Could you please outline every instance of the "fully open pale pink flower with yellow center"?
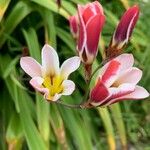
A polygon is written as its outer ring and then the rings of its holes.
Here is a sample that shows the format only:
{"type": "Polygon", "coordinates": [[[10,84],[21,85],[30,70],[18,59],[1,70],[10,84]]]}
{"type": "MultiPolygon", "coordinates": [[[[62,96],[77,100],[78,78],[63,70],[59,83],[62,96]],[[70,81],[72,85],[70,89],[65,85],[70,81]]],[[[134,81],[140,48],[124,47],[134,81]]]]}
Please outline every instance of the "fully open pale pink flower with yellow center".
{"type": "Polygon", "coordinates": [[[45,44],[41,55],[42,65],[32,57],[22,57],[20,60],[22,69],[32,77],[30,84],[33,88],[51,101],[58,100],[62,95],[72,94],[75,84],[67,79],[79,67],[79,57],[67,59],[59,68],[58,55],[51,46],[45,44]]]}

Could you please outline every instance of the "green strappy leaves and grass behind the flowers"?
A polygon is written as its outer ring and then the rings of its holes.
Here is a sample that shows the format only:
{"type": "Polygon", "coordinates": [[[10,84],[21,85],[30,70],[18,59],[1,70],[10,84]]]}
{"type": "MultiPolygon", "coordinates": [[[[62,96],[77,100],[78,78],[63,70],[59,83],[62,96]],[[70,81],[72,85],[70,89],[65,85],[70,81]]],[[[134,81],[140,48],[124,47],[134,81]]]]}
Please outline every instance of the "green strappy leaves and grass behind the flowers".
{"type": "MultiPolygon", "coordinates": [[[[108,108],[69,109],[50,104],[29,85],[30,78],[20,68],[21,56],[40,61],[41,47],[49,43],[57,49],[61,62],[76,54],[68,18],[76,4],[90,0],[0,0],[0,149],[5,150],[150,150],[150,99],[125,101],[108,108]]],[[[143,70],[140,82],[150,90],[150,2],[149,0],[101,0],[106,15],[100,63],[113,31],[125,9],[141,8],[140,19],[126,48],[143,70]]],[[[80,103],[85,82],[82,67],[70,77],[77,90],[63,97],[80,103]]]]}

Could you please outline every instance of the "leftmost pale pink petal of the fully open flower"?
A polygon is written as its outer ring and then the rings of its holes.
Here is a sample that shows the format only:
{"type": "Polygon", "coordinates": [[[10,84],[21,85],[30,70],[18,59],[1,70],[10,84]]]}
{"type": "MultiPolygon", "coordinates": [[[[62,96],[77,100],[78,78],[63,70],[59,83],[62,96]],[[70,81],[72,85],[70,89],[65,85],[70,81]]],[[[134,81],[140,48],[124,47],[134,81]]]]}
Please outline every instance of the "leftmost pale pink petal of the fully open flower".
{"type": "Polygon", "coordinates": [[[41,76],[41,65],[32,57],[22,57],[21,68],[31,77],[41,76]]]}

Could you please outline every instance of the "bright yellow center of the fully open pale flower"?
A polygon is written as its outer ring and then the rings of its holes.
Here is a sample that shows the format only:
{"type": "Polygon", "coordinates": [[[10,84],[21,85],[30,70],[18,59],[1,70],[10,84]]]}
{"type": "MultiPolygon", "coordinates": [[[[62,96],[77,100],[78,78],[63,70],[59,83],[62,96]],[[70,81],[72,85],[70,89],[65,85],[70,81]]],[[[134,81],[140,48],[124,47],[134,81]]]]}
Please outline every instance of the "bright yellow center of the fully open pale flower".
{"type": "Polygon", "coordinates": [[[52,100],[56,93],[63,92],[63,79],[60,76],[47,76],[44,79],[43,86],[49,89],[48,99],[52,100]]]}

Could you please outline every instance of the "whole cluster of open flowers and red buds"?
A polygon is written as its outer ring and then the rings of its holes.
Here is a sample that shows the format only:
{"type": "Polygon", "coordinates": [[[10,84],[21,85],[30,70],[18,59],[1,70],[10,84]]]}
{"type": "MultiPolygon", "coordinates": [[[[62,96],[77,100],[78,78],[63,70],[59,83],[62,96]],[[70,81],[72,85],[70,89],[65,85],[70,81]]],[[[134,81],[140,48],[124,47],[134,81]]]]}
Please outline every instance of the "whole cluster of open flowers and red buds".
{"type": "MultiPolygon", "coordinates": [[[[132,54],[121,54],[128,43],[139,17],[139,7],[129,8],[122,16],[112,36],[106,52],[106,64],[99,69],[94,87],[88,91],[88,97],[82,106],[108,106],[128,99],[143,99],[149,93],[137,83],[142,71],[133,67],[132,54]]],[[[57,101],[62,95],[70,95],[75,90],[69,75],[77,70],[80,61],[85,67],[85,80],[92,79],[92,64],[97,56],[98,43],[105,15],[98,1],[85,6],[78,5],[78,14],[69,19],[70,30],[77,42],[79,56],[67,59],[59,68],[56,51],[45,44],[42,49],[42,65],[31,57],[22,57],[20,65],[31,76],[30,84],[48,101],[57,101]]]]}

